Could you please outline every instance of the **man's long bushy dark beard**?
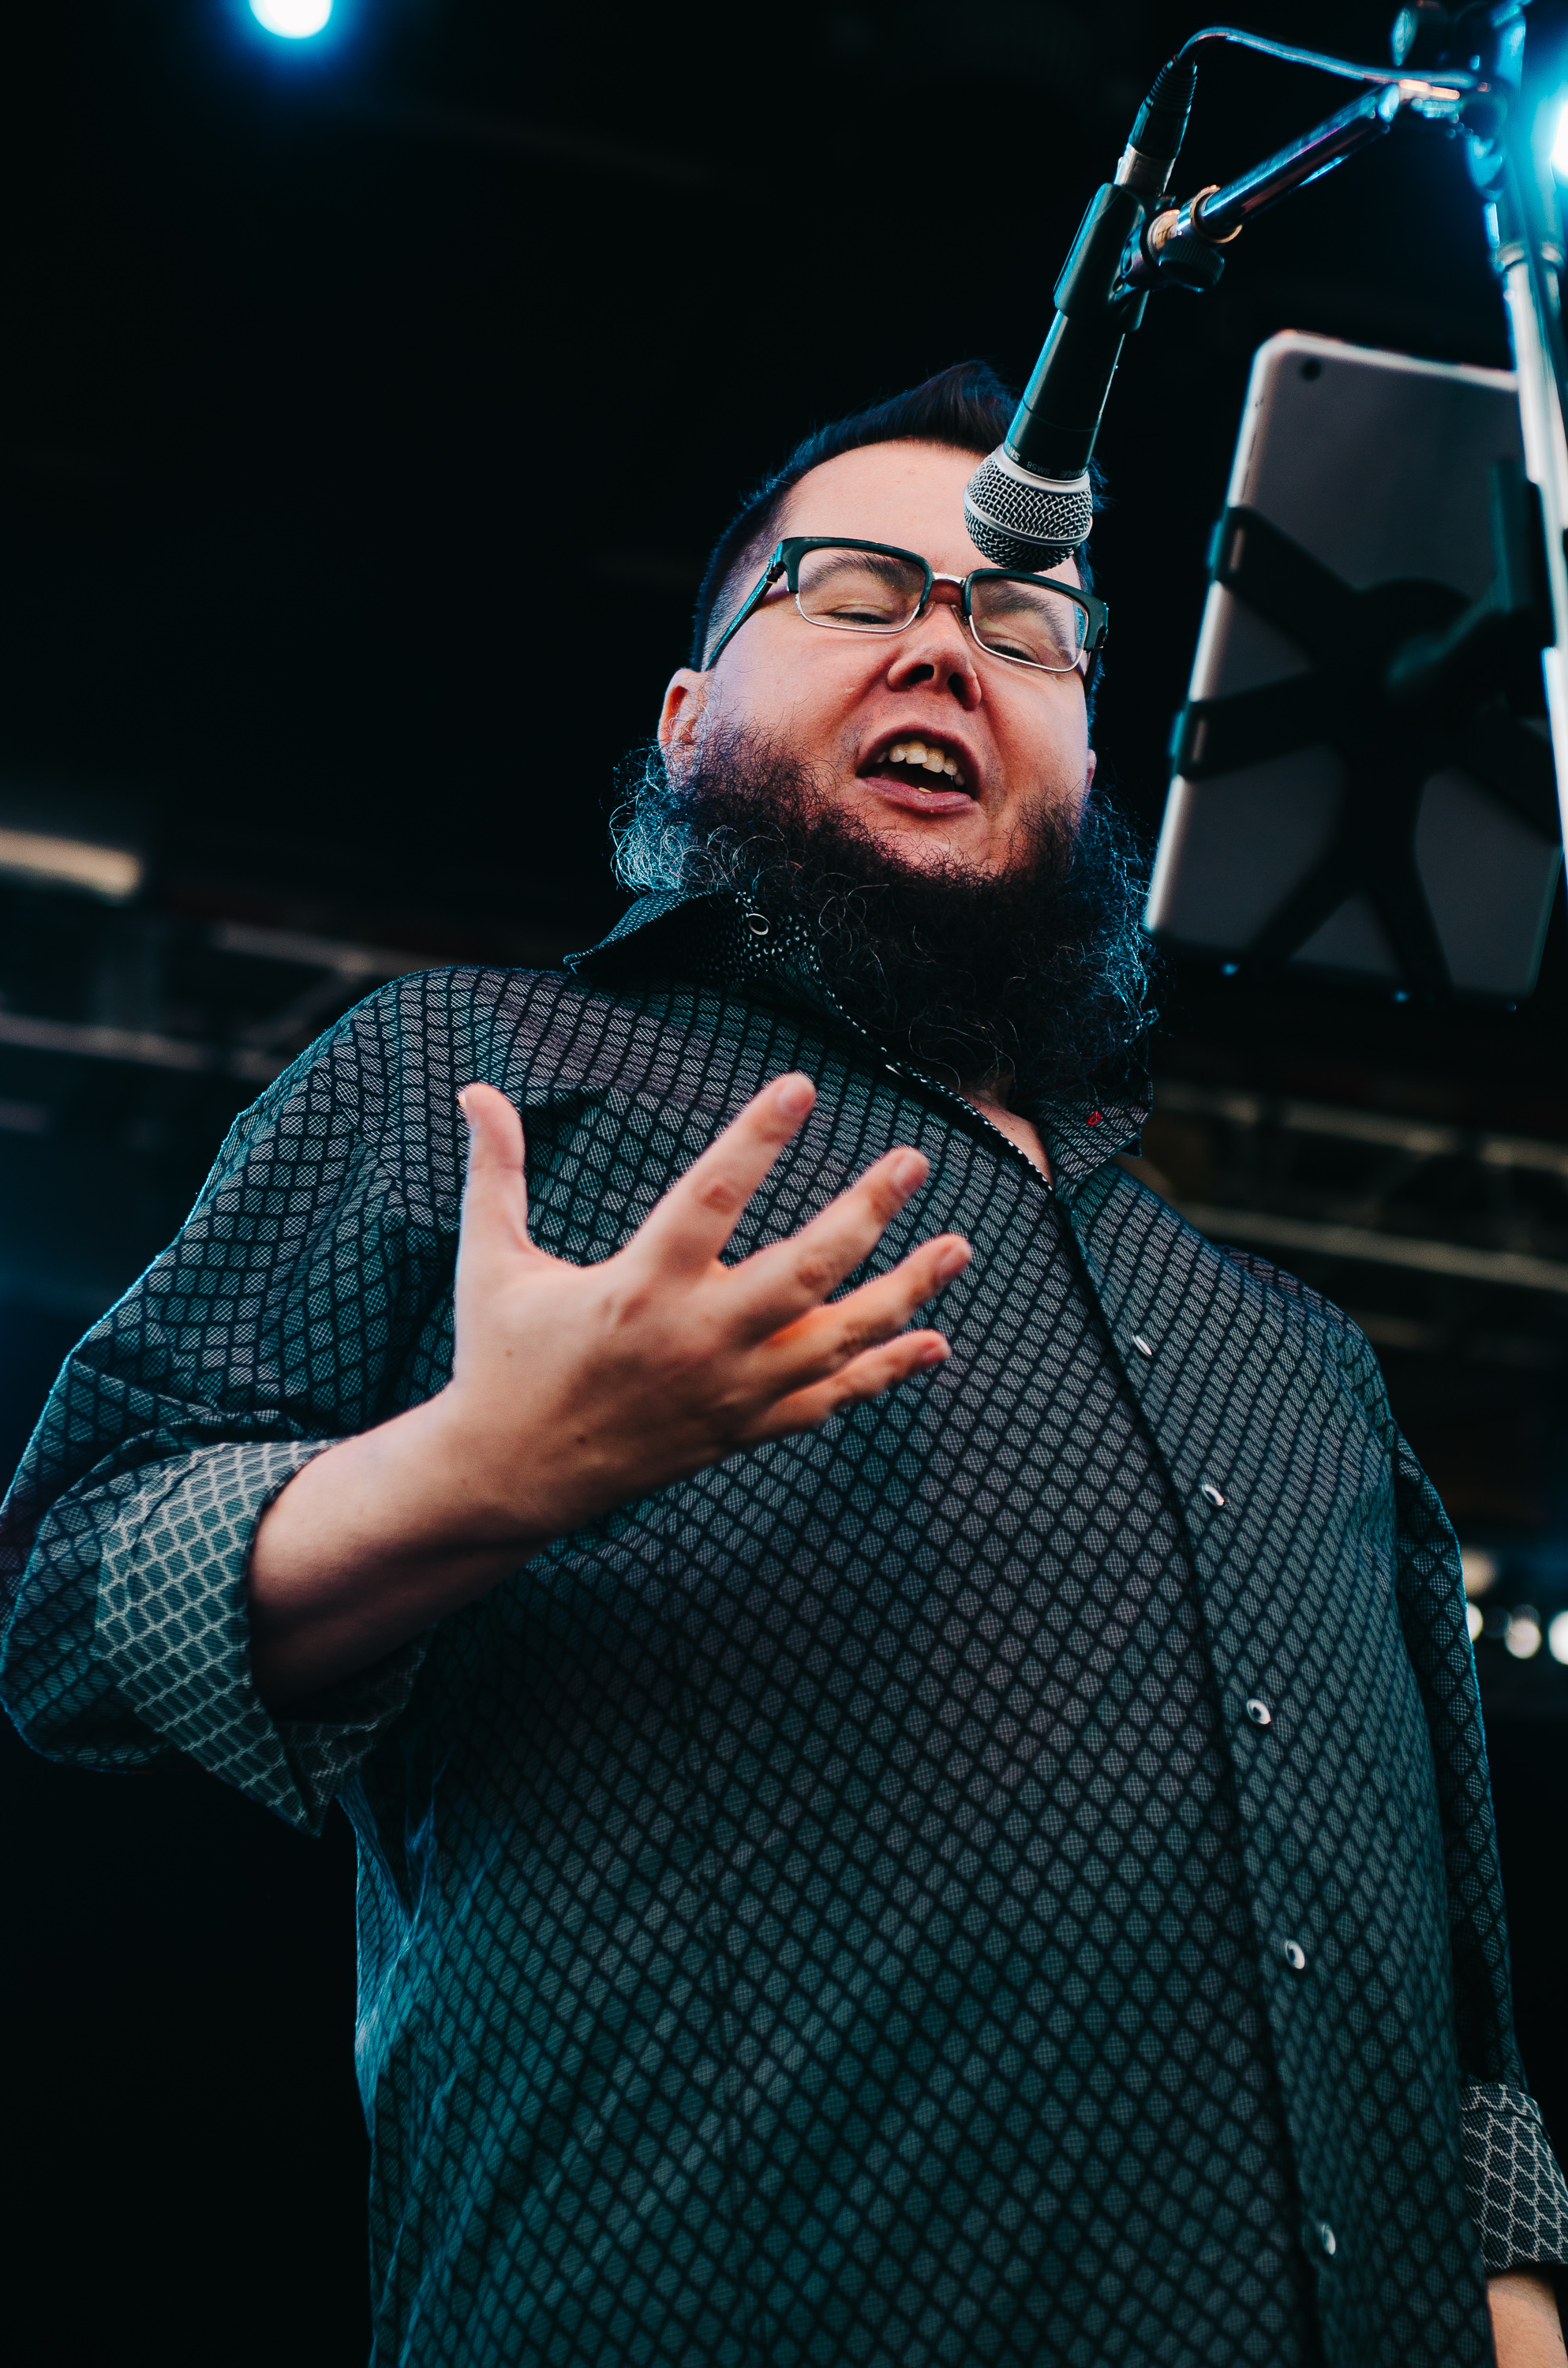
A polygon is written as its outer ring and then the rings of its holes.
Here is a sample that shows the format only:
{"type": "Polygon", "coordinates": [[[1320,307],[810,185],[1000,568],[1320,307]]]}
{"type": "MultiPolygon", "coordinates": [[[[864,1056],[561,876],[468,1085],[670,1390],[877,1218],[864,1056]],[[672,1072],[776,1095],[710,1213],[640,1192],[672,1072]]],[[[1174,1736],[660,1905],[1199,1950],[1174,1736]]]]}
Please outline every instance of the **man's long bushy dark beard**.
{"type": "Polygon", "coordinates": [[[1007,867],[910,864],[760,734],[720,729],[670,781],[640,758],[618,817],[628,888],[730,888],[810,926],[846,1011],[921,1068],[1026,1103],[1153,1023],[1144,864],[1104,803],[1042,796],[1007,867]]]}

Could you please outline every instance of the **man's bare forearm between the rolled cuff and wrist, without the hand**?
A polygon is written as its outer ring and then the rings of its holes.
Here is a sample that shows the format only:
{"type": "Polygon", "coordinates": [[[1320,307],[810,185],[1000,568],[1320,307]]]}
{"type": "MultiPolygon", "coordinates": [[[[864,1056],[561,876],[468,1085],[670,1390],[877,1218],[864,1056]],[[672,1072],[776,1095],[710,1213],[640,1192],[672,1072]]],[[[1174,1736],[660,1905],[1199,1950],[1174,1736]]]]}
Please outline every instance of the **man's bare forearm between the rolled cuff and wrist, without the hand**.
{"type": "Polygon", "coordinates": [[[289,1703],[393,1653],[538,1553],[486,1487],[450,1390],[339,1440],[272,1499],[251,1546],[251,1669],[289,1703]]]}

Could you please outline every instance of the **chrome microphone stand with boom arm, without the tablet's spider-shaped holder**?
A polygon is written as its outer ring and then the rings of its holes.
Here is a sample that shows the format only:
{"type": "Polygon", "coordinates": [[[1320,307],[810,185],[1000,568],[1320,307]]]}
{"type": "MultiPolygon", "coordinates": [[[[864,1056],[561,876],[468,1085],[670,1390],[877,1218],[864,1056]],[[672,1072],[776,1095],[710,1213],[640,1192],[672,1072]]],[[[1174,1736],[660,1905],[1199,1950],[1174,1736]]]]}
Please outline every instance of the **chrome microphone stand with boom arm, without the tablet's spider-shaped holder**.
{"type": "MultiPolygon", "coordinates": [[[[1144,256],[1149,265],[1158,265],[1161,249],[1177,253],[1191,242],[1229,246],[1265,206],[1371,147],[1400,116],[1424,118],[1466,135],[1471,180],[1483,201],[1487,246],[1509,320],[1525,476],[1540,502],[1540,528],[1528,521],[1537,552],[1537,566],[1528,568],[1535,575],[1535,592],[1521,599],[1516,583],[1506,587],[1506,594],[1495,585],[1442,637],[1419,635],[1405,642],[1390,656],[1383,680],[1390,703],[1405,710],[1419,703],[1452,708],[1454,691],[1461,691],[1473,706],[1497,689],[1518,687],[1521,642],[1528,651],[1540,651],[1559,817],[1568,843],[1568,547],[1563,542],[1568,530],[1568,436],[1563,433],[1568,346],[1559,289],[1563,232],[1549,166],[1537,154],[1532,126],[1521,121],[1523,7],[1525,0],[1497,0],[1495,7],[1466,9],[1464,21],[1450,19],[1450,31],[1478,57],[1480,71],[1435,64],[1426,71],[1395,69],[1390,73],[1310,52],[1289,52],[1277,43],[1234,33],[1227,26],[1196,33],[1194,43],[1241,40],[1277,57],[1367,81],[1376,78],[1376,83],[1350,107],[1341,107],[1338,114],[1239,173],[1225,187],[1206,189],[1196,199],[1158,213],[1144,232],[1144,256]],[[1497,632],[1499,616],[1506,616],[1511,628],[1502,637],[1497,632]]],[[[1518,575],[1518,571],[1514,573],[1518,575]]]]}

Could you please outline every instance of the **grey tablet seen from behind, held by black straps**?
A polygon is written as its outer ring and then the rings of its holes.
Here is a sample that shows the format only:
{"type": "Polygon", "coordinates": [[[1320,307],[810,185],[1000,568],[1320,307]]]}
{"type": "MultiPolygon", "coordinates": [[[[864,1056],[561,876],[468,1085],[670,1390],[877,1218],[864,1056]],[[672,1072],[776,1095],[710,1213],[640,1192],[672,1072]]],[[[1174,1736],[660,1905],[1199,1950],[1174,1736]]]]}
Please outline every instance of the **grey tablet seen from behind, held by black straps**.
{"type": "MultiPolygon", "coordinates": [[[[1149,928],[1227,973],[1518,1002],[1561,869],[1540,713],[1400,715],[1388,654],[1495,575],[1514,374],[1286,332],[1253,360],[1149,928]]],[[[1528,488],[1523,488],[1528,497],[1528,488]]]]}

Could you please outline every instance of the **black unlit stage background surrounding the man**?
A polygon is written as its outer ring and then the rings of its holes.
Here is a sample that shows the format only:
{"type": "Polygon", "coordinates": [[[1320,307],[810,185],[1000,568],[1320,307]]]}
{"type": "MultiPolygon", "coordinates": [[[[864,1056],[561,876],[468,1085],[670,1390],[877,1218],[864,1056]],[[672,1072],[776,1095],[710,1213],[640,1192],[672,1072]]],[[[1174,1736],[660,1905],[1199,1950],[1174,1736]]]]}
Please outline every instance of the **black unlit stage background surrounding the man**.
{"type": "MultiPolygon", "coordinates": [[[[1246,21],[1381,57],[1388,14],[1246,21]]],[[[1532,17],[1549,73],[1563,12],[1532,17]]],[[[379,976],[374,950],[550,961],[613,919],[616,765],[737,495],[803,429],[945,362],[1028,372],[1082,204],[1196,21],[1168,0],[339,0],[294,47],[242,0],[7,19],[0,826],[107,817],[149,855],[123,909],[0,879],[7,1471],[265,1061],[379,976]],[[369,966],[327,961],[322,987],[308,938],[369,966]],[[137,1030],[218,1054],[182,1068],[137,1030]]],[[[1343,97],[1210,54],[1187,180],[1343,97]]],[[[1248,232],[1217,294],[1151,305],[1127,353],[1099,741],[1149,831],[1248,358],[1279,327],[1506,365],[1459,152],[1386,142],[1248,232]]],[[[1341,1146],[1312,1167],[1267,1118],[1305,1096],[1566,1144],[1561,907],[1518,1014],[1203,971],[1172,973],[1165,1011],[1163,1077],[1265,1108],[1241,1137],[1156,1120],[1175,1189],[1371,1191],[1393,1229],[1568,1250],[1561,1182],[1504,1205],[1464,1163],[1369,1179],[1341,1146]]],[[[1568,1298],[1291,1262],[1367,1319],[1502,1570],[1492,1601],[1568,1603],[1568,1298]]],[[[1525,2058],[1568,2145],[1568,1669],[1490,1636],[1478,1658],[1525,2058]]],[[[362,2359],[341,1819],[313,1845],[197,1774],[111,1781],[2,1743],[9,2356],[362,2359]]]]}

